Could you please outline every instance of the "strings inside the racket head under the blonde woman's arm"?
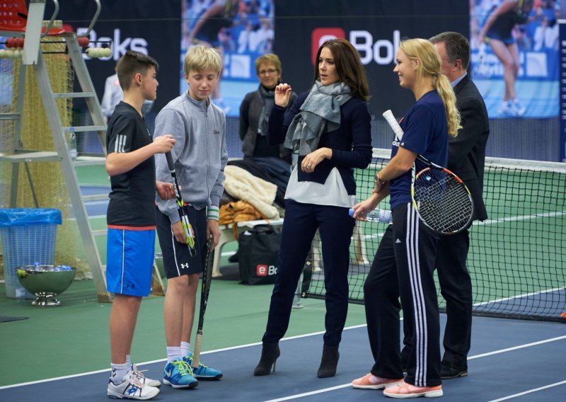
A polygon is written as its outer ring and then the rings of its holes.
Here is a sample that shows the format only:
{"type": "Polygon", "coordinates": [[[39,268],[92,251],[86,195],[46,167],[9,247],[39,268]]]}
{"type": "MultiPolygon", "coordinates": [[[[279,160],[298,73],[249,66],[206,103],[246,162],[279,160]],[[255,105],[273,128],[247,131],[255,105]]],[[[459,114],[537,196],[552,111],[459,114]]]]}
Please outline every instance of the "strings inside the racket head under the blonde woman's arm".
{"type": "Polygon", "coordinates": [[[466,188],[444,171],[431,169],[415,179],[414,199],[421,219],[440,233],[465,228],[473,214],[466,188]]]}

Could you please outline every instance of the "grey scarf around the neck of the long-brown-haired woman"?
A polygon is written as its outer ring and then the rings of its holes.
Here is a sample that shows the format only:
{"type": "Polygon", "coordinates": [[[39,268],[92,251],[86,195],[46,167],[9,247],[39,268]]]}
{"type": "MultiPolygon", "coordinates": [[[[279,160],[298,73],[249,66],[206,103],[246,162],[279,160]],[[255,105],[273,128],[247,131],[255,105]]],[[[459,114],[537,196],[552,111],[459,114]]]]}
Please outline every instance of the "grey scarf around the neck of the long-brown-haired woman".
{"type": "Polygon", "coordinates": [[[301,105],[301,112],[289,125],[284,147],[299,151],[300,156],[316,150],[325,130],[340,127],[340,106],[350,98],[350,87],[343,82],[323,86],[317,80],[301,105]]]}

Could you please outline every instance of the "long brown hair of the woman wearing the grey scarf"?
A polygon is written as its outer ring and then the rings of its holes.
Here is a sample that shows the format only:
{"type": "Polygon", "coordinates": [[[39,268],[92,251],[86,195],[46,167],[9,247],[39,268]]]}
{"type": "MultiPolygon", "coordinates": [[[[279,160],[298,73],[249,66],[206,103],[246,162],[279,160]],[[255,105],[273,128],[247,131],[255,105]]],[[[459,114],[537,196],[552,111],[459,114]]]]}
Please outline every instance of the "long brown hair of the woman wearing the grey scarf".
{"type": "Polygon", "coordinates": [[[359,53],[350,42],[345,39],[337,38],[324,42],[316,53],[316,64],[314,67],[314,80],[316,81],[320,72],[318,71],[318,59],[323,47],[332,52],[336,65],[338,79],[350,87],[352,96],[369,101],[369,86],[367,84],[366,69],[359,59],[359,53]]]}

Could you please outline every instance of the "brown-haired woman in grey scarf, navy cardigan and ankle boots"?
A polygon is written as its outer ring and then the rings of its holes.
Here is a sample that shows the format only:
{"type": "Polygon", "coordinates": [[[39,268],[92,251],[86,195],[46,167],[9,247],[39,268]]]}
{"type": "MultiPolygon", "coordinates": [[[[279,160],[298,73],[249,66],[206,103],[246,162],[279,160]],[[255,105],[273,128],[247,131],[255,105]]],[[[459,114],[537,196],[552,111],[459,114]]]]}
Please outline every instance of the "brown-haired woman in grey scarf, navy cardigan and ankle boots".
{"type": "Polygon", "coordinates": [[[289,84],[275,88],[267,140],[298,155],[285,194],[277,278],[271,297],[261,360],[255,375],[270,374],[287,331],[296,284],[318,229],[325,271],[326,316],[318,377],[333,377],[348,309],[348,267],[356,204],[354,168],[371,161],[369,89],[359,54],[344,39],[323,43],[316,56],[315,82],[285,113],[289,84]]]}

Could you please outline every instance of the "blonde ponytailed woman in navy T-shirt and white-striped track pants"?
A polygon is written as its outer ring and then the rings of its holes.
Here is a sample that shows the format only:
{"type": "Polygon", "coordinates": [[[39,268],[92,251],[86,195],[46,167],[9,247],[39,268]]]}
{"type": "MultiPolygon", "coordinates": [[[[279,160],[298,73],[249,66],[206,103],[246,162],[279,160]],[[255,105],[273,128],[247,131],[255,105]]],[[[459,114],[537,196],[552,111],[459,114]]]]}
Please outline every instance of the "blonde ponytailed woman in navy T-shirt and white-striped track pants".
{"type": "MultiPolygon", "coordinates": [[[[440,72],[434,45],[424,39],[400,43],[393,71],[417,103],[401,119],[405,134],[393,139],[391,161],[376,174],[372,195],[354,206],[354,217],[391,195],[393,224],[386,229],[364,284],[367,330],[375,364],[354,388],[385,389],[395,398],[442,396],[439,313],[434,260],[439,236],[424,226],[411,204],[411,167],[417,154],[441,166],[448,161],[448,135],[460,114],[450,82],[440,72]],[[400,304],[399,304],[400,297],[400,304]],[[403,307],[410,355],[403,378],[399,311],[403,307]]],[[[420,166],[417,161],[417,171],[420,166]]]]}

